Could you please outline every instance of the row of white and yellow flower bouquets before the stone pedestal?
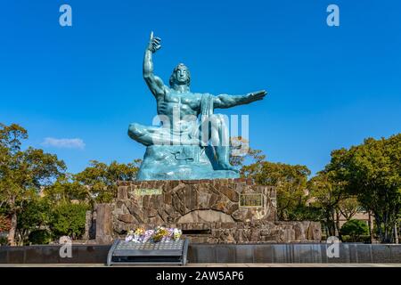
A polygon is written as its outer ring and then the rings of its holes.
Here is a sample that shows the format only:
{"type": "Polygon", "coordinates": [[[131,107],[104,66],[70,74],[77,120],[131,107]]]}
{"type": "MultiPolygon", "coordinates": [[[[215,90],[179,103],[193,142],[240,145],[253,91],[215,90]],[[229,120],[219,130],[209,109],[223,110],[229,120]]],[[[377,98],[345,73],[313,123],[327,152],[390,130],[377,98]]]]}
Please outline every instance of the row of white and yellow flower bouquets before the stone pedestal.
{"type": "Polygon", "coordinates": [[[153,242],[179,240],[183,232],[177,228],[165,228],[158,226],[154,230],[145,230],[143,227],[136,228],[135,231],[130,230],[127,232],[126,241],[132,242],[146,242],[151,240],[153,242]]]}

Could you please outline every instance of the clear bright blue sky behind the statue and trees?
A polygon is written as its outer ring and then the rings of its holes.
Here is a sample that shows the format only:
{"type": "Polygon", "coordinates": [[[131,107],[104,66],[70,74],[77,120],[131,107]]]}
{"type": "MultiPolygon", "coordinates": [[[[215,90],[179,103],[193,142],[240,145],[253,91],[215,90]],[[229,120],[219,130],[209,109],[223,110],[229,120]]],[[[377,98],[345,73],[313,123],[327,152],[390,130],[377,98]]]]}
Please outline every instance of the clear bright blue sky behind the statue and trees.
{"type": "Polygon", "coordinates": [[[222,112],[250,115],[250,146],[267,159],[316,172],[331,150],[401,131],[400,15],[399,1],[4,0],[0,122],[27,128],[26,145],[72,173],[90,159],[142,158],[127,126],[151,125],[156,113],[142,77],[153,30],[165,83],[183,61],[192,91],[266,89],[263,102],[222,112]],[[59,25],[61,4],[72,27],[59,25]],[[326,24],[329,4],[340,27],[326,24]],[[49,137],[83,143],[54,147],[49,137]]]}

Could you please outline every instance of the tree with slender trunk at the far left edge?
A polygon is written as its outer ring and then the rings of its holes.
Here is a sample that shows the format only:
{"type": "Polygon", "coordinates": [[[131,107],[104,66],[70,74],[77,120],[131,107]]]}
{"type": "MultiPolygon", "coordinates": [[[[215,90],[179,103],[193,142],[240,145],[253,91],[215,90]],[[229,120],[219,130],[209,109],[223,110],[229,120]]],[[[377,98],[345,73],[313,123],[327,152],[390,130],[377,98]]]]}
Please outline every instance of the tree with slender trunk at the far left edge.
{"type": "Polygon", "coordinates": [[[11,245],[15,244],[18,213],[24,203],[65,170],[64,162],[55,155],[31,147],[21,151],[21,140],[27,138],[23,127],[0,124],[0,207],[7,208],[12,217],[8,234],[11,245]]]}

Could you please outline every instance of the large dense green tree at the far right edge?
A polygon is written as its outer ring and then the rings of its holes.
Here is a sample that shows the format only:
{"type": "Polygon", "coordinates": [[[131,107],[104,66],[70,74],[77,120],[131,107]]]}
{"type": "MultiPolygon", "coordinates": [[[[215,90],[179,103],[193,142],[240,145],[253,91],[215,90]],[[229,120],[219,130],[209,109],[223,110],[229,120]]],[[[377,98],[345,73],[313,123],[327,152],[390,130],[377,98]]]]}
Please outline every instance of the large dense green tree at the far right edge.
{"type": "Polygon", "coordinates": [[[326,169],[372,211],[381,241],[391,242],[401,210],[401,134],[332,151],[326,169]]]}

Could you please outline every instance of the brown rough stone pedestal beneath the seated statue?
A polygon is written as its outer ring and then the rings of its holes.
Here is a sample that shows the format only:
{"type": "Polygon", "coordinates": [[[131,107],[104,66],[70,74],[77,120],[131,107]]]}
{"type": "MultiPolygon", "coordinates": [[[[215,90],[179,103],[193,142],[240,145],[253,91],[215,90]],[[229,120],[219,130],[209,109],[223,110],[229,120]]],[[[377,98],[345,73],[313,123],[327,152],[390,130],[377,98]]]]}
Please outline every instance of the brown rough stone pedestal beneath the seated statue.
{"type": "Polygon", "coordinates": [[[163,225],[207,243],[320,241],[320,223],[277,221],[275,195],[274,187],[241,178],[119,182],[112,230],[118,237],[163,225]]]}

